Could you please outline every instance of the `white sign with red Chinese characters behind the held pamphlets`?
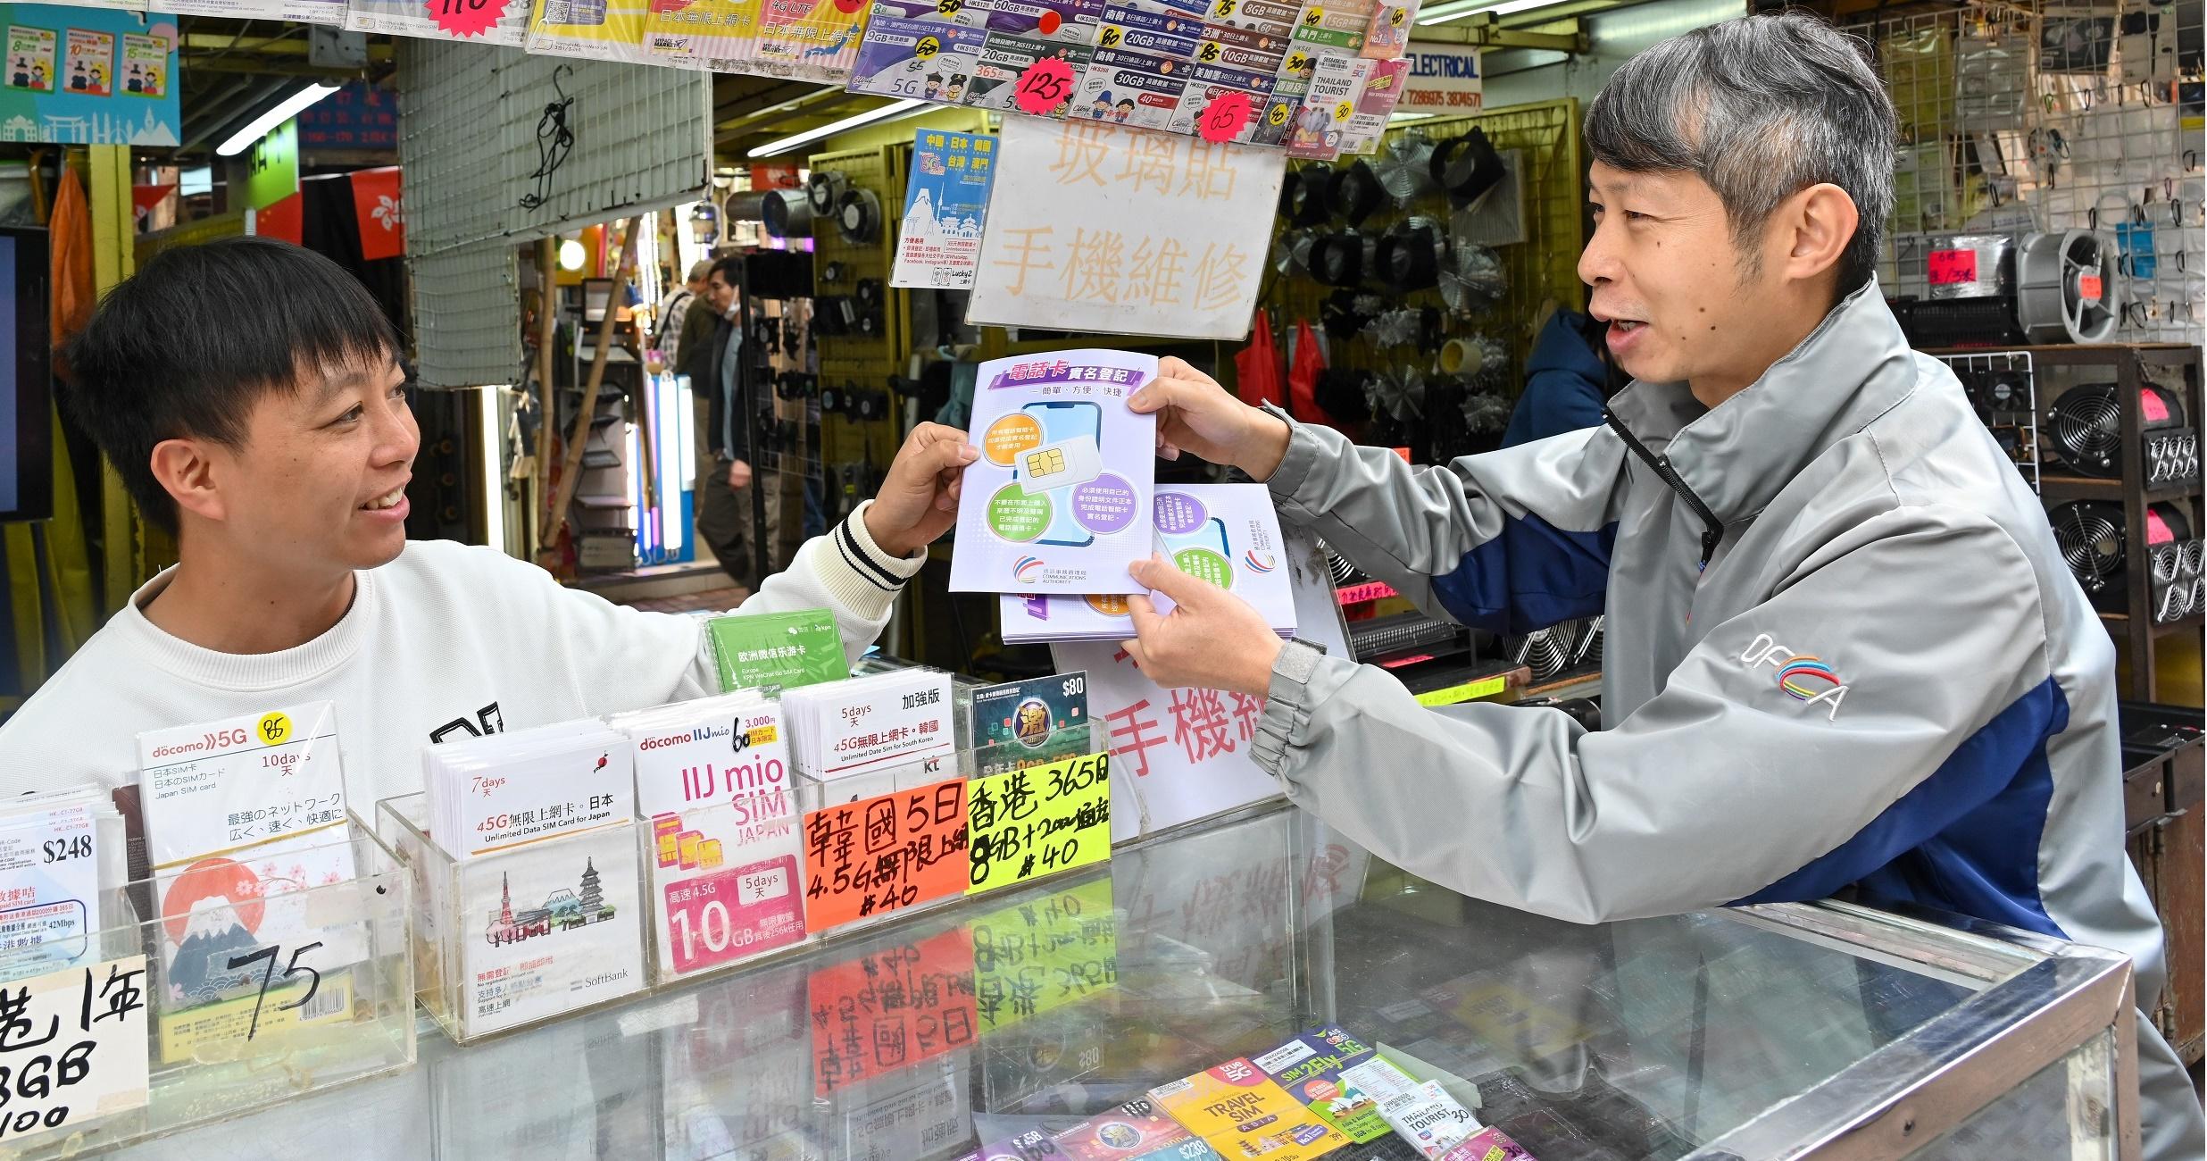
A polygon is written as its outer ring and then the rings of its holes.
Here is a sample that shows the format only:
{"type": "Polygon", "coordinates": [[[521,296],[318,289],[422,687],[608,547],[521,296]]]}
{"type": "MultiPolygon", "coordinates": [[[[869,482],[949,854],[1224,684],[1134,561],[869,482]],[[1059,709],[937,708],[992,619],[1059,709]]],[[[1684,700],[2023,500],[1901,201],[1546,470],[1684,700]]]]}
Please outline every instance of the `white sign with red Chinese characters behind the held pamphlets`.
{"type": "MultiPolygon", "coordinates": [[[[1296,528],[1282,530],[1280,541],[1298,636],[1324,645],[1329,656],[1351,656],[1324,554],[1296,528]]],[[[1059,673],[1088,671],[1088,715],[1110,737],[1112,843],[1280,792],[1280,784],[1249,759],[1262,697],[1161,689],[1134,669],[1119,642],[1057,642],[1051,658],[1059,673]]]]}

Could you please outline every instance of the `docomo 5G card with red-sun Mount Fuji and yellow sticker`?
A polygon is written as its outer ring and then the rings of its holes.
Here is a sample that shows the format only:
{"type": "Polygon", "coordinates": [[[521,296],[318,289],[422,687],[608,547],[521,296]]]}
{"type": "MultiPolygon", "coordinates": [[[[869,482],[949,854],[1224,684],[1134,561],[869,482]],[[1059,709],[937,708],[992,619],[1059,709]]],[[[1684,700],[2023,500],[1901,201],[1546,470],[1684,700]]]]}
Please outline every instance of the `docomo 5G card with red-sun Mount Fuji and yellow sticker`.
{"type": "MultiPolygon", "coordinates": [[[[324,978],[366,956],[360,916],[318,905],[318,887],[353,878],[338,715],[329,702],[146,731],[139,808],[161,925],[159,1013],[168,1059],[221,1037],[230,1009],[267,982],[265,956],[311,947],[324,978]],[[236,965],[236,967],[234,967],[236,965]]],[[[346,1015],[342,980],[316,989],[289,1022],[346,1015]]],[[[274,1006],[274,1004],[271,1004],[274,1006]]],[[[274,1031],[267,1022],[260,1033],[274,1031]]]]}

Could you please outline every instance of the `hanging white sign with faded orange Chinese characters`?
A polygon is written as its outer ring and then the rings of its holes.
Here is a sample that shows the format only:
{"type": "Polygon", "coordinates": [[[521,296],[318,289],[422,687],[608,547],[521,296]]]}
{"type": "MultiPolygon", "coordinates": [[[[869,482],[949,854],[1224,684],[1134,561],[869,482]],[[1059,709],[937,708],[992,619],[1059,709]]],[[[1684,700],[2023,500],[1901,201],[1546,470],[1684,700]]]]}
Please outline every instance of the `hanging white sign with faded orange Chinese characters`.
{"type": "Polygon", "coordinates": [[[1249,333],[1287,155],[1104,121],[1009,117],[967,322],[1249,333]]]}

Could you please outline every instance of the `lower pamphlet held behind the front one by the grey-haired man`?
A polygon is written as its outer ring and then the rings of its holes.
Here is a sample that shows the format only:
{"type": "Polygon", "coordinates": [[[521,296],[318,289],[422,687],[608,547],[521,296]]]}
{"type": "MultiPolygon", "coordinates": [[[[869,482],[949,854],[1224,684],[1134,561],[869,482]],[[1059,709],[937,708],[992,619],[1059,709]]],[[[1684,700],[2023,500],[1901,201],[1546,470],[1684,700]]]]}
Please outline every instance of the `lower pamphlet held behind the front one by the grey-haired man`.
{"type": "MultiPolygon", "coordinates": [[[[1154,547],[1181,572],[1247,600],[1282,638],[1296,636],[1280,514],[1262,483],[1170,483],[1152,505],[1154,547]]],[[[1172,598],[1150,594],[1159,614],[1172,598]]],[[[1126,640],[1134,636],[1126,596],[1002,596],[1004,645],[1037,640],[1126,640]]]]}

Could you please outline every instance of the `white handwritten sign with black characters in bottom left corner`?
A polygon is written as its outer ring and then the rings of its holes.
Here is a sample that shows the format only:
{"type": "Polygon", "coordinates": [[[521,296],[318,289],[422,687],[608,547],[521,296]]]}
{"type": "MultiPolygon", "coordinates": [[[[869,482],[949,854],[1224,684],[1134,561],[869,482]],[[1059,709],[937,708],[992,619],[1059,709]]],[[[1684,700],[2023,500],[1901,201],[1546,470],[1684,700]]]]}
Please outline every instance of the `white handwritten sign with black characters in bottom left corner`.
{"type": "Polygon", "coordinates": [[[0,984],[0,1150],[146,1106],[146,956],[0,984]]]}

